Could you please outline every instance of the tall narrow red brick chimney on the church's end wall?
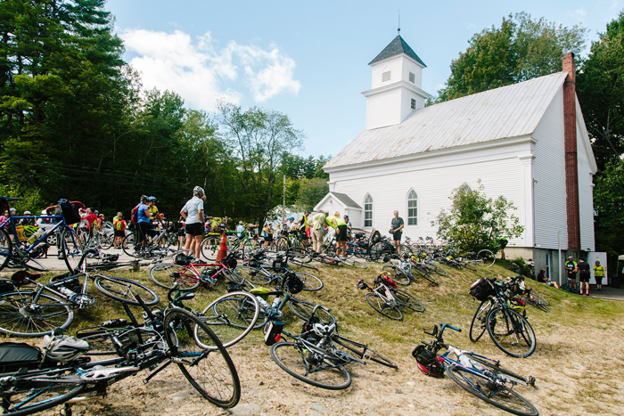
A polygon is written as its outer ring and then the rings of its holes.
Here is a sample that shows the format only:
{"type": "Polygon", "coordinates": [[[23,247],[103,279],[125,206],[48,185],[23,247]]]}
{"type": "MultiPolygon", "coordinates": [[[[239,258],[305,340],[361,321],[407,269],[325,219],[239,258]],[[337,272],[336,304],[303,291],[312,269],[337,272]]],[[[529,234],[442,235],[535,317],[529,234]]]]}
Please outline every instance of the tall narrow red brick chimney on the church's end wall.
{"type": "Polygon", "coordinates": [[[577,156],[576,68],[574,53],[563,55],[563,137],[565,146],[565,189],[568,212],[568,249],[580,249],[579,164],[577,156]]]}

